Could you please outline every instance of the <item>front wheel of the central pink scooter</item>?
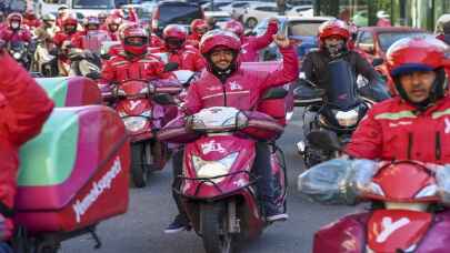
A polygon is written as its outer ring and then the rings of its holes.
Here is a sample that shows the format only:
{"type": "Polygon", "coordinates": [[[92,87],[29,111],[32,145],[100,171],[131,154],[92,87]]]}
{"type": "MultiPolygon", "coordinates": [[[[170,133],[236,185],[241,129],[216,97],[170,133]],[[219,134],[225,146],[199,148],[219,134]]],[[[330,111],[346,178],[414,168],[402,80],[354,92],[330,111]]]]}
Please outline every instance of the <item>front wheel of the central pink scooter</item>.
{"type": "Polygon", "coordinates": [[[200,224],[207,253],[232,253],[233,235],[227,231],[227,212],[223,203],[202,204],[200,224]]]}

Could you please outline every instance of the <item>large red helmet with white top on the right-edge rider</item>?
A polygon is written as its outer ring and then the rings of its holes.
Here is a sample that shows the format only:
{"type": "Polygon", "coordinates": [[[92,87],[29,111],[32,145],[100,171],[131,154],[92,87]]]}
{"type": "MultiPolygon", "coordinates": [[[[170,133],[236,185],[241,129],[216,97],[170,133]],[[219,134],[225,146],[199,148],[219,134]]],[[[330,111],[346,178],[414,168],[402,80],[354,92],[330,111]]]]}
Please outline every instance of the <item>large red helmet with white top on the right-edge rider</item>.
{"type": "Polygon", "coordinates": [[[446,51],[449,47],[431,36],[404,38],[394,42],[387,52],[387,64],[394,80],[396,89],[408,99],[398,79],[399,75],[414,71],[436,71],[432,99],[443,97],[446,90],[446,51]]]}

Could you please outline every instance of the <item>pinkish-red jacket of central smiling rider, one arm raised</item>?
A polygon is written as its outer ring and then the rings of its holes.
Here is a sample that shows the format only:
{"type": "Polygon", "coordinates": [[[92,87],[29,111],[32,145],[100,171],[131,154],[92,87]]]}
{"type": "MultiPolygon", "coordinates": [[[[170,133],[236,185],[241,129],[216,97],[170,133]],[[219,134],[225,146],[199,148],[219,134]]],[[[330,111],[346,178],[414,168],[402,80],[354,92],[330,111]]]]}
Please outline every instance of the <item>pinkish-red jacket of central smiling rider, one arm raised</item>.
{"type": "Polygon", "coordinates": [[[282,69],[270,73],[240,68],[222,83],[214,74],[203,70],[200,79],[189,87],[186,101],[188,114],[211,107],[254,110],[264,90],[294,81],[299,75],[293,47],[280,49],[280,52],[283,54],[282,69]]]}

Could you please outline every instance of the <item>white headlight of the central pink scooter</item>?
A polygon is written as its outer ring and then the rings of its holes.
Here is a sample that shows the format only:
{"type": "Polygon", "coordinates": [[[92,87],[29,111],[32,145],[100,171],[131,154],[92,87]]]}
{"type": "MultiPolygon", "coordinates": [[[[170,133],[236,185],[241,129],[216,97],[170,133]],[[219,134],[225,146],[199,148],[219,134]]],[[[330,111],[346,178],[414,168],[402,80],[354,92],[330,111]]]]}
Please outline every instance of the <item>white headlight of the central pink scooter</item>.
{"type": "MultiPolygon", "coordinates": [[[[214,176],[226,175],[230,172],[232,164],[238,158],[238,154],[239,152],[231,153],[219,161],[204,161],[197,155],[192,155],[192,165],[197,171],[198,178],[210,179],[214,176]]],[[[219,183],[223,181],[224,178],[226,176],[211,179],[211,181],[214,183],[219,183]]]]}

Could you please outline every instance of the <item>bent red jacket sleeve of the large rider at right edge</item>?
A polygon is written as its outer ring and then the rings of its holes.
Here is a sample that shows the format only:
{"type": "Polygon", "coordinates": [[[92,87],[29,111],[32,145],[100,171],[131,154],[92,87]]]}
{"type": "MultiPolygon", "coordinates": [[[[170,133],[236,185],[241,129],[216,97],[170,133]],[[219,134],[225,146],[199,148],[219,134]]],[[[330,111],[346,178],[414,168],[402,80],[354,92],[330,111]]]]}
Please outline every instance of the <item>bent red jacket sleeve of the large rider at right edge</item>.
{"type": "Polygon", "coordinates": [[[379,159],[382,151],[382,129],[380,122],[370,110],[361,120],[351,141],[346,146],[346,153],[359,159],[379,159]]]}

